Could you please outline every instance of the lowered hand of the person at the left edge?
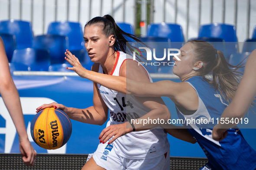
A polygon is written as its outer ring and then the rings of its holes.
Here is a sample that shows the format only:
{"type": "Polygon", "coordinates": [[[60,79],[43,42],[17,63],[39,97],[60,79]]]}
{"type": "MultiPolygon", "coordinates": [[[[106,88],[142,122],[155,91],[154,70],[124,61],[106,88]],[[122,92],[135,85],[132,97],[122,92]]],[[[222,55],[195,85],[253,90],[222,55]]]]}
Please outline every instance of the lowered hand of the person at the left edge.
{"type": "Polygon", "coordinates": [[[29,139],[19,139],[19,151],[26,166],[33,166],[36,161],[36,151],[32,147],[29,139]]]}

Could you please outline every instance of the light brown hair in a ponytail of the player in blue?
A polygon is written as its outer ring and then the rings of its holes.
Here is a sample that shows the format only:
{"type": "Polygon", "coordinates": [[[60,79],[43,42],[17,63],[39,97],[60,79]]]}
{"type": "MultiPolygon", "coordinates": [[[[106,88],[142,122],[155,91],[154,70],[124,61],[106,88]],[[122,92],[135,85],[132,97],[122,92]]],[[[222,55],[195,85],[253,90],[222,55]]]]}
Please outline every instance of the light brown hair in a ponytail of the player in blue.
{"type": "Polygon", "coordinates": [[[194,46],[196,57],[194,62],[203,62],[203,67],[197,70],[196,76],[202,76],[216,90],[218,89],[220,91],[225,101],[230,103],[235,95],[242,75],[237,69],[243,66],[230,65],[227,63],[222,51],[214,49],[211,44],[205,41],[193,40],[189,42],[194,46]],[[204,76],[211,72],[213,79],[206,79],[204,76]]]}

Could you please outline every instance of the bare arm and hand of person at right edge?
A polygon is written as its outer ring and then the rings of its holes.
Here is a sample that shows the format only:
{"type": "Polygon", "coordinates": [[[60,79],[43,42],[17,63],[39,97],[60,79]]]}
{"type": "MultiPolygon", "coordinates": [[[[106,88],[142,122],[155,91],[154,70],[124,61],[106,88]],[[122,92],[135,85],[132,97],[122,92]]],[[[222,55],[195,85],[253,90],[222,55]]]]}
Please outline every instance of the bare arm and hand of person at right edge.
{"type": "MultiPolygon", "coordinates": [[[[224,110],[220,118],[228,118],[229,120],[243,118],[250,107],[253,99],[256,96],[256,50],[250,54],[245,69],[243,78],[237,88],[237,92],[224,110]]],[[[217,124],[212,130],[212,138],[217,141],[221,141],[224,138],[225,131],[233,128],[236,124],[217,124]]]]}

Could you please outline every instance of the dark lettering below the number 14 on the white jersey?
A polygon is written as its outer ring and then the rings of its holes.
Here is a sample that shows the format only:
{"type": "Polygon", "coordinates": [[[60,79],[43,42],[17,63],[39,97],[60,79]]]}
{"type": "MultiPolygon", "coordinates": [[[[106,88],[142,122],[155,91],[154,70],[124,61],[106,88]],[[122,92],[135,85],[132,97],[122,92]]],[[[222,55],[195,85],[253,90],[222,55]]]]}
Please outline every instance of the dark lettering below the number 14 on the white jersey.
{"type": "Polygon", "coordinates": [[[130,121],[131,119],[137,119],[139,118],[139,115],[135,112],[132,112],[132,113],[114,113],[113,111],[110,111],[110,116],[111,118],[116,121],[116,122],[126,122],[127,121],[130,121]]]}

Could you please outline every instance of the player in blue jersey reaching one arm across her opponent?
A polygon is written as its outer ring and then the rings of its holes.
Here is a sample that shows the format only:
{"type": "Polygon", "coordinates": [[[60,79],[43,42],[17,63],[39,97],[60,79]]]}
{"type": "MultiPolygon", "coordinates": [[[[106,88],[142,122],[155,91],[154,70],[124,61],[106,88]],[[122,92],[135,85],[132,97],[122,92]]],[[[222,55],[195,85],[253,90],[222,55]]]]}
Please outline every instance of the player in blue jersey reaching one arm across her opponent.
{"type": "MultiPolygon", "coordinates": [[[[228,129],[228,135],[225,133],[222,141],[212,139],[216,119],[220,118],[237,89],[239,66],[228,64],[221,51],[204,41],[189,41],[180,50],[180,60],[173,58],[173,73],[179,76],[180,83],[169,80],[154,83],[134,81],[79,69],[75,64],[73,70],[79,72],[83,78],[121,93],[143,97],[169,97],[176,104],[178,117],[184,120],[184,126],[209,160],[201,170],[256,169],[256,151],[247,144],[240,129],[228,129]],[[205,78],[210,72],[213,73],[213,80],[205,78]],[[196,123],[188,120],[200,121],[196,123]]],[[[141,127],[140,124],[134,126],[141,127]]],[[[166,131],[169,132],[168,129],[166,131]]],[[[106,134],[115,133],[109,127],[104,129],[100,134],[104,141],[110,139],[110,135],[106,134]]]]}

